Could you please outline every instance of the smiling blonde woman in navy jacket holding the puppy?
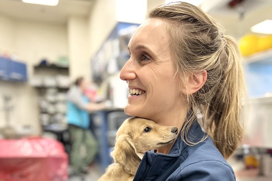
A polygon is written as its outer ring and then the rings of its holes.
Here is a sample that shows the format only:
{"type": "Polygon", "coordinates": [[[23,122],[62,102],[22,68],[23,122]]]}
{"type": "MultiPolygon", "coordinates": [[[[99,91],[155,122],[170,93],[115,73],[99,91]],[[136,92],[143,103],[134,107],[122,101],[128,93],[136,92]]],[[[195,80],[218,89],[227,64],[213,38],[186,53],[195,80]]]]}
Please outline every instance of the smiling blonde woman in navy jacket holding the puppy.
{"type": "Polygon", "coordinates": [[[235,180],[225,160],[242,136],[243,72],[234,40],[198,7],[175,2],[151,10],[128,51],[120,74],[130,91],[125,113],[180,131],[170,146],[145,153],[134,181],[235,180]]]}

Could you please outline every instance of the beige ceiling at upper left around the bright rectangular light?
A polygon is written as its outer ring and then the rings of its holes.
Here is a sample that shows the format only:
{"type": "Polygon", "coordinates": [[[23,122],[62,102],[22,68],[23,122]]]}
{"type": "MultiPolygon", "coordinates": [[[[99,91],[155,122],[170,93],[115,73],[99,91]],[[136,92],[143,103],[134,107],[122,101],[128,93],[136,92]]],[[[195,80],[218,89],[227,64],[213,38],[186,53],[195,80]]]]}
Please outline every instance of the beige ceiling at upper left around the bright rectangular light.
{"type": "Polygon", "coordinates": [[[14,19],[65,24],[69,16],[88,16],[94,0],[59,0],[57,6],[0,0],[0,15],[14,19]]]}

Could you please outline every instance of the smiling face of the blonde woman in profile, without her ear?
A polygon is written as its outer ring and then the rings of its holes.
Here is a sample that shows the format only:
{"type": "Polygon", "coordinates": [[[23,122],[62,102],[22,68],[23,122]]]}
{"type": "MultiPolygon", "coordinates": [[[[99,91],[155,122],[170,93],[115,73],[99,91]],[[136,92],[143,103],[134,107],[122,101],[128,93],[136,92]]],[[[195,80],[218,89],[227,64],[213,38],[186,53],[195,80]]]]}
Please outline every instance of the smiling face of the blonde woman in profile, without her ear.
{"type": "Polygon", "coordinates": [[[181,98],[166,23],[146,20],[130,39],[128,51],[130,58],[120,74],[130,91],[125,113],[156,122],[170,118],[180,108],[181,98]]]}

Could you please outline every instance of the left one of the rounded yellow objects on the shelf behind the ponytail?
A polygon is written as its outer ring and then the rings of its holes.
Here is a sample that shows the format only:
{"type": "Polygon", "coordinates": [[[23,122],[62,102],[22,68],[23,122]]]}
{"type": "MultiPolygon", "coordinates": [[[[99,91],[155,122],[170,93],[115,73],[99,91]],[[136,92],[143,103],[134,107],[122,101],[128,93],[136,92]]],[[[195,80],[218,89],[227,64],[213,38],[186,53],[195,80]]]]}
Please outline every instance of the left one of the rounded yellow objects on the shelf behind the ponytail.
{"type": "Polygon", "coordinates": [[[254,54],[259,51],[258,48],[258,36],[255,35],[245,35],[239,41],[239,49],[241,54],[245,57],[254,54]]]}

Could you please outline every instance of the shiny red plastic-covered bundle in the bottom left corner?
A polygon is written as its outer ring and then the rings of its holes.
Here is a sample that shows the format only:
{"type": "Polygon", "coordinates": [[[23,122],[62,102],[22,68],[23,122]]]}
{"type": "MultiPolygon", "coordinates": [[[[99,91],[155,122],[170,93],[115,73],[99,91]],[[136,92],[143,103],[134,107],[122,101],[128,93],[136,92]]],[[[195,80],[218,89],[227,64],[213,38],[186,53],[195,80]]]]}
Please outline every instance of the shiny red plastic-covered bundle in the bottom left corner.
{"type": "Polygon", "coordinates": [[[0,181],[64,181],[68,155],[53,139],[0,139],[0,181]]]}

